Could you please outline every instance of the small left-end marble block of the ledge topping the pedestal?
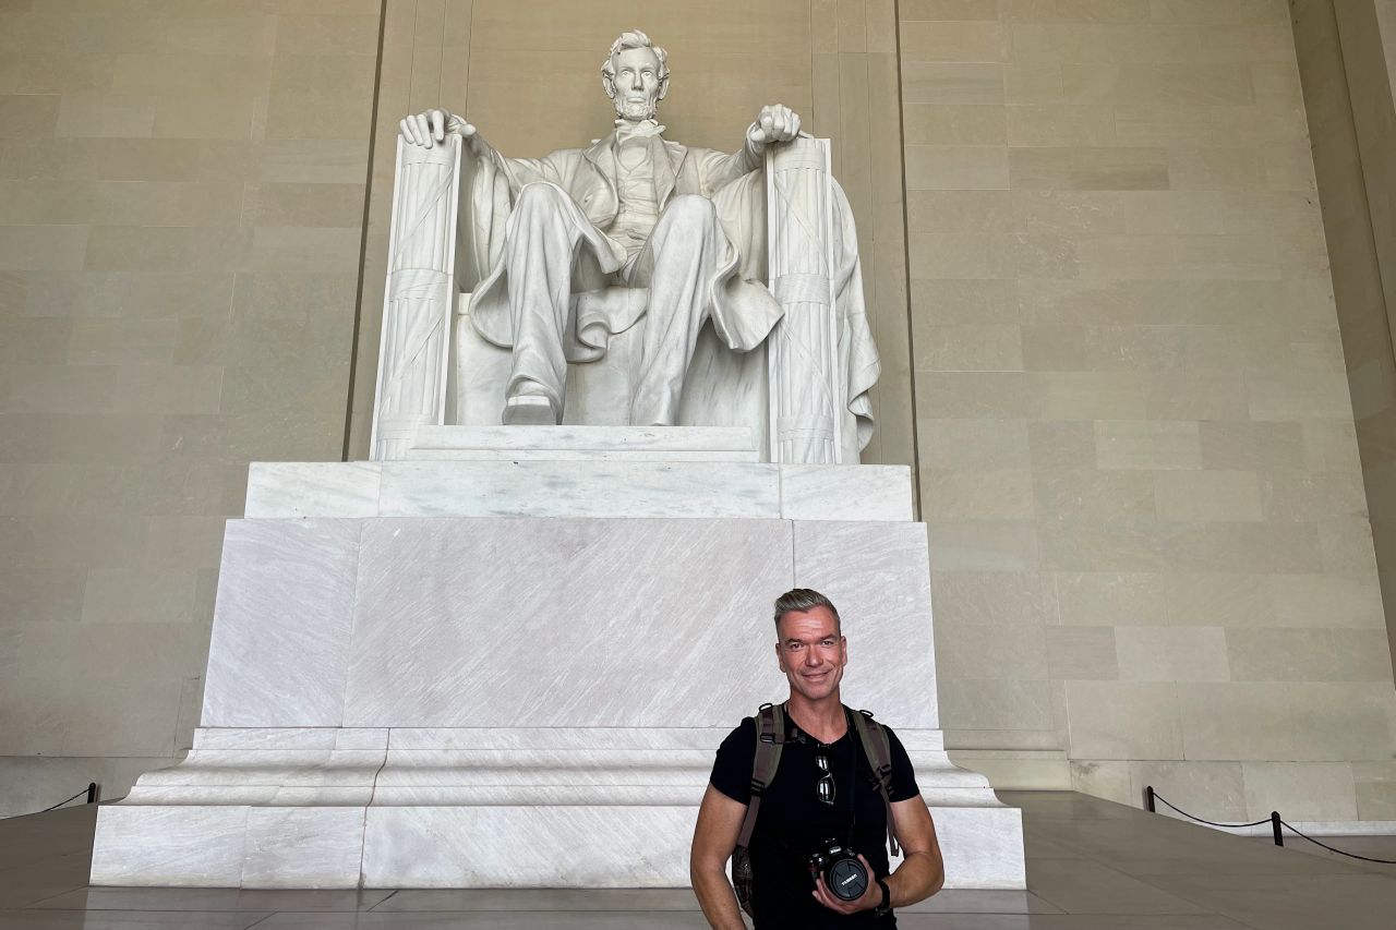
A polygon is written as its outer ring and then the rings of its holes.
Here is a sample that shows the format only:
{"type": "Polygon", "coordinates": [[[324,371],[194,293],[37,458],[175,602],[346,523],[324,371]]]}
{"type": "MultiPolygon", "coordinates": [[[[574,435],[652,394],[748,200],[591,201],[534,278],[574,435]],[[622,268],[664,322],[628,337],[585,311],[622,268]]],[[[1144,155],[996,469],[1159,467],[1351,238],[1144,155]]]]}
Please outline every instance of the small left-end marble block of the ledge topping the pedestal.
{"type": "Polygon", "coordinates": [[[253,462],[243,515],[374,517],[377,462],[253,462]]]}

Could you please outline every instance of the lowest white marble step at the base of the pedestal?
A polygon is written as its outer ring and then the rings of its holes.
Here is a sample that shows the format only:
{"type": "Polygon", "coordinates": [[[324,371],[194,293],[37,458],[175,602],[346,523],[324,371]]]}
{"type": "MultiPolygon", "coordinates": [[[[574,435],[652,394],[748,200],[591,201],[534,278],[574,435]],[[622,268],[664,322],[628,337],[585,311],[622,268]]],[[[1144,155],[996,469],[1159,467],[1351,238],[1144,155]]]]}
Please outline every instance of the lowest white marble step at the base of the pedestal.
{"type": "MultiPolygon", "coordinates": [[[[697,813],[697,803],[105,804],[91,884],[681,888],[697,813]]],[[[946,888],[1025,887],[1022,811],[952,806],[934,817],[946,888]]]]}

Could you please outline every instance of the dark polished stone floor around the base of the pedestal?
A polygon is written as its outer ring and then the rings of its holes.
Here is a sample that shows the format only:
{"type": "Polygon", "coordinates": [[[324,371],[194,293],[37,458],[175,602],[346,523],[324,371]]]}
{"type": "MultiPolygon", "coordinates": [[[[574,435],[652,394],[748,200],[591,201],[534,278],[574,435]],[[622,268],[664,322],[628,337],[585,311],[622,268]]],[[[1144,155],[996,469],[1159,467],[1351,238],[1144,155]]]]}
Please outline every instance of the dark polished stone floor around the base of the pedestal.
{"type": "MultiPolygon", "coordinates": [[[[946,891],[906,930],[1390,930],[1396,866],[1275,848],[1074,793],[1023,807],[1027,891],[946,891]]],[[[88,888],[94,809],[0,821],[0,930],[466,930],[705,927],[659,891],[88,888]]],[[[1396,859],[1396,836],[1335,839],[1396,859]]],[[[1294,845],[1301,841],[1290,841],[1294,845]]]]}

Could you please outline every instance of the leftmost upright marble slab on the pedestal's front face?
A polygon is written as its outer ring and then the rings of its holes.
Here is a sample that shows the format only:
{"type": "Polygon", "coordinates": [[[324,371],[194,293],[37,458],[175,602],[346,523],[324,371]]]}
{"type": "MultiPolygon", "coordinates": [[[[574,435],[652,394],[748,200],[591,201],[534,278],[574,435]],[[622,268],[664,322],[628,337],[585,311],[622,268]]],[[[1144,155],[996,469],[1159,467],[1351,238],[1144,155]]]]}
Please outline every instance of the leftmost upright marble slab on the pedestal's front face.
{"type": "Polygon", "coordinates": [[[233,519],[204,726],[339,726],[360,522],[233,519]]]}

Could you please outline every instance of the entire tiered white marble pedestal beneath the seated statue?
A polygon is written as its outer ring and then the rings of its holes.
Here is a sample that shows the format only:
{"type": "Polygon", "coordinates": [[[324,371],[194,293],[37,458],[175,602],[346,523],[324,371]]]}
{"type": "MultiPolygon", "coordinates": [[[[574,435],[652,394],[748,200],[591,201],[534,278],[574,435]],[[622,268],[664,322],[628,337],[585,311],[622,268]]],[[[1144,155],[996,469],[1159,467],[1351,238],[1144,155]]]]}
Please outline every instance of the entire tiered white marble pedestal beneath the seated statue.
{"type": "Polygon", "coordinates": [[[687,885],[713,750],[786,693],[771,602],[811,586],[946,885],[1023,887],[1019,811],[941,741],[907,469],[764,464],[730,430],[419,444],[253,466],[194,750],[103,806],[92,884],[687,885]]]}

